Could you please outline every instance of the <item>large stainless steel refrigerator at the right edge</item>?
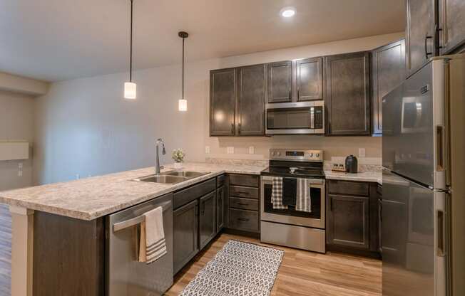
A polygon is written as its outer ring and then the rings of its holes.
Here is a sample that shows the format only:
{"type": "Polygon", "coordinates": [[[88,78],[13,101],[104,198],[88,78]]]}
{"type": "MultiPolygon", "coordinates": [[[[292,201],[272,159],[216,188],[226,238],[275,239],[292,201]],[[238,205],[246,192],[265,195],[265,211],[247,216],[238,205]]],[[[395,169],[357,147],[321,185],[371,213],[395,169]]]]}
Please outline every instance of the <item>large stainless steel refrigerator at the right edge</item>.
{"type": "Polygon", "coordinates": [[[431,59],[382,108],[382,295],[465,295],[465,55],[431,59]]]}

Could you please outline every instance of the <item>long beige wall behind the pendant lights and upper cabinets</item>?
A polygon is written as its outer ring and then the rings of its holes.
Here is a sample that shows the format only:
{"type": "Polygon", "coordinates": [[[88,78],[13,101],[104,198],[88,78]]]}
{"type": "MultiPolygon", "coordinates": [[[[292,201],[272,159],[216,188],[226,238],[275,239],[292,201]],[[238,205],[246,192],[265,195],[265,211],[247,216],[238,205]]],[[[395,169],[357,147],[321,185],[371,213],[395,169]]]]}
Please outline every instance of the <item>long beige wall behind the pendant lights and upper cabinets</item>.
{"type": "MultiPolygon", "coordinates": [[[[270,147],[325,149],[326,159],[364,147],[367,157],[381,157],[381,139],[372,137],[209,137],[209,70],[365,51],[402,36],[394,33],[187,63],[187,113],[177,111],[180,65],[136,71],[138,99],[134,101],[123,100],[127,73],[53,83],[49,93],[36,101],[34,182],[151,166],[158,137],[165,139],[168,154],[183,148],[188,160],[200,162],[205,157],[265,159],[270,147]],[[253,155],[247,154],[251,145],[256,148],[253,155]],[[209,155],[205,146],[210,147],[209,155]],[[236,154],[226,154],[228,146],[235,147],[236,154]]],[[[162,159],[170,162],[169,155],[162,159]]]]}

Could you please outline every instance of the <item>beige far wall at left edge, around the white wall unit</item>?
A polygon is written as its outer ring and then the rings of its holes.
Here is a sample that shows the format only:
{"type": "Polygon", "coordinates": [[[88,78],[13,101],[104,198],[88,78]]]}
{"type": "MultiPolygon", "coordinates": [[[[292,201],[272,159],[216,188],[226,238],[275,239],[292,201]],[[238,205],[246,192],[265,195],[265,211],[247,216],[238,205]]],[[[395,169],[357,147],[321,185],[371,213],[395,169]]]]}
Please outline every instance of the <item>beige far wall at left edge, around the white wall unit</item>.
{"type": "MultiPolygon", "coordinates": [[[[0,141],[33,142],[33,120],[34,99],[32,97],[0,90],[0,141]]],[[[31,186],[31,184],[31,159],[0,162],[0,191],[31,186]],[[18,176],[20,163],[23,164],[23,176],[18,176]]]]}

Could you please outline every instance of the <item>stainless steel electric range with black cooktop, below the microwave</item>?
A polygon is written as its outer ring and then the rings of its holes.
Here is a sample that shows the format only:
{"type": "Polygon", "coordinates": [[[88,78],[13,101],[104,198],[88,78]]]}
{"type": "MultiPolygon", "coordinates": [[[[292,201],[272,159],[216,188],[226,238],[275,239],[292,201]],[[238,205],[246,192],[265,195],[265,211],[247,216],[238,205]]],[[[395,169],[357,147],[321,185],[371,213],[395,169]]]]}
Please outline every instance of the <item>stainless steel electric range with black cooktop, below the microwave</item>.
{"type": "Polygon", "coordinates": [[[270,164],[261,173],[260,240],[325,253],[325,172],[322,150],[270,149],[270,164]],[[311,211],[295,206],[273,208],[273,178],[307,179],[311,211]]]}

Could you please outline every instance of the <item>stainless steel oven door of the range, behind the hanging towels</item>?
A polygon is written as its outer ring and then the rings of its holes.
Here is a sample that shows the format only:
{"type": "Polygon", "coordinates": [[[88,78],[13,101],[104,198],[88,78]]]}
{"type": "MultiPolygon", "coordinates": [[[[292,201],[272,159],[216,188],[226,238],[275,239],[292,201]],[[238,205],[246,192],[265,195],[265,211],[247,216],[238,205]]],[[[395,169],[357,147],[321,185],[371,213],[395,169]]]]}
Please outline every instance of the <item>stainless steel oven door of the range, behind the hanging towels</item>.
{"type": "Polygon", "coordinates": [[[286,210],[272,208],[272,176],[262,176],[260,196],[261,220],[290,225],[325,229],[325,180],[312,179],[310,182],[310,199],[312,212],[295,211],[290,207],[286,210]]]}

